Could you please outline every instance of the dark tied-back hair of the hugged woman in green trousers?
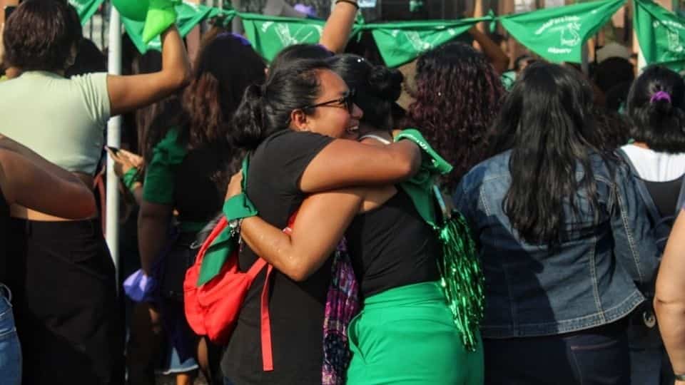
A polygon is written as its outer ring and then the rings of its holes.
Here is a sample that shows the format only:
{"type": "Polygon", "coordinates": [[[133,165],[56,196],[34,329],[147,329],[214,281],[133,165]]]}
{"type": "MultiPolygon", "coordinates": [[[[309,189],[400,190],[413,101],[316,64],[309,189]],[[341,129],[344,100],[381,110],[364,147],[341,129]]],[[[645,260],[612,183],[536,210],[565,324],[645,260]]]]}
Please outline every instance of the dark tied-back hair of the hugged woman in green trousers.
{"type": "Polygon", "coordinates": [[[350,89],[357,91],[355,103],[364,111],[362,123],[380,130],[392,130],[393,105],[402,93],[404,76],[396,69],[373,66],[361,56],[345,54],[328,60],[350,89]]]}

